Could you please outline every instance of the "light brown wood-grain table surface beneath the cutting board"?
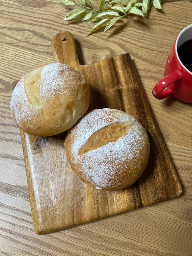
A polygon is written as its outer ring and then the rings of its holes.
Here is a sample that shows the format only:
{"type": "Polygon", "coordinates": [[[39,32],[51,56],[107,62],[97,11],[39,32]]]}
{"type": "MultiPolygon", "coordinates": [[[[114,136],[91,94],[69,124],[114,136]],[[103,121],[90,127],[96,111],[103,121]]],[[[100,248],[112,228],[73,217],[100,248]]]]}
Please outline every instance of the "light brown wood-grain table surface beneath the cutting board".
{"type": "Polygon", "coordinates": [[[191,24],[191,1],[163,1],[163,12],[130,16],[86,37],[92,24],[62,22],[57,0],[0,0],[0,255],[192,255],[192,104],[156,100],[169,51],[191,24]],[[130,53],[171,156],[183,193],[175,199],[47,235],[34,231],[19,128],[10,113],[12,81],[54,62],[51,40],[70,31],[80,64],[130,53]]]}

